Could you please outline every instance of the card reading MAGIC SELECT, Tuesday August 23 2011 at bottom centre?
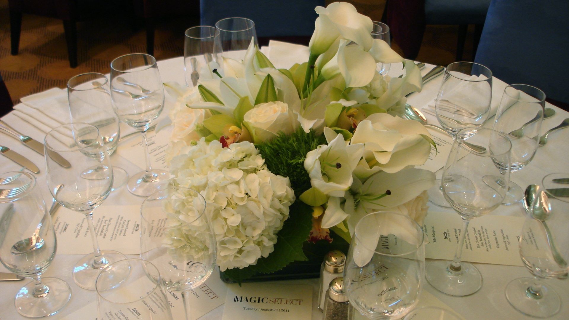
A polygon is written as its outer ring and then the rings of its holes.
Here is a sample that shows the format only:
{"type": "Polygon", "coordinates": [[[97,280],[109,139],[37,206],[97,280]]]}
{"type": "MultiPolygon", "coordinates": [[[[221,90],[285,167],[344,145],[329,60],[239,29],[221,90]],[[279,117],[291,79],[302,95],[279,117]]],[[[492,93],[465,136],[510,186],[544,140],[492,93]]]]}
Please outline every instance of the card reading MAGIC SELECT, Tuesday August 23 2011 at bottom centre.
{"type": "Polygon", "coordinates": [[[229,285],[222,320],[312,318],[312,286],[252,283],[229,285]]]}

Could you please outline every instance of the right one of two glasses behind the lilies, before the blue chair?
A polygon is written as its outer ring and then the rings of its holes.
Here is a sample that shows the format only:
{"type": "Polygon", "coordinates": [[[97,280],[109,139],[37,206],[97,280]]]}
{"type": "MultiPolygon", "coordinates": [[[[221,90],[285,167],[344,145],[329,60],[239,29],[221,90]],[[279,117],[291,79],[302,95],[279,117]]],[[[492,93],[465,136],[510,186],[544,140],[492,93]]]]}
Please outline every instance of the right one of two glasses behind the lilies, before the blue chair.
{"type": "Polygon", "coordinates": [[[224,58],[243,60],[251,41],[259,46],[255,23],[247,18],[225,18],[215,23],[220,31],[221,51],[224,58]]]}

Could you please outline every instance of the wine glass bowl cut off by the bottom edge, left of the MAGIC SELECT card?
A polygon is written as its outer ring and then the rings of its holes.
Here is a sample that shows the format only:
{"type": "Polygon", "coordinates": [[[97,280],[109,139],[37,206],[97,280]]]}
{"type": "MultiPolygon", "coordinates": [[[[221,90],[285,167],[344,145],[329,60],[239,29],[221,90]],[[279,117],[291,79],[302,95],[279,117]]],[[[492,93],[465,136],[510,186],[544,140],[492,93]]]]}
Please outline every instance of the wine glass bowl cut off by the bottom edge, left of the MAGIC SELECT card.
{"type": "Polygon", "coordinates": [[[149,261],[113,262],[97,277],[98,319],[123,319],[115,315],[132,313],[139,320],[171,320],[171,307],[160,282],[158,269],[149,261]]]}

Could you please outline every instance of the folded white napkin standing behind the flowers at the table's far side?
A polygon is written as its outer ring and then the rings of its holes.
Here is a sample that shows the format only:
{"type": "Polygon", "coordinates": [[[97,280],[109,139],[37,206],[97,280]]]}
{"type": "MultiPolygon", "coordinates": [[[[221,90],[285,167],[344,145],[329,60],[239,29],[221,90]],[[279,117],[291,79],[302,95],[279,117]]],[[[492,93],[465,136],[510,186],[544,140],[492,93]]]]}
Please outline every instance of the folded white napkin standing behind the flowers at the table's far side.
{"type": "Polygon", "coordinates": [[[277,69],[289,69],[295,63],[308,61],[310,56],[307,46],[275,40],[270,40],[269,47],[263,48],[262,52],[277,69]]]}

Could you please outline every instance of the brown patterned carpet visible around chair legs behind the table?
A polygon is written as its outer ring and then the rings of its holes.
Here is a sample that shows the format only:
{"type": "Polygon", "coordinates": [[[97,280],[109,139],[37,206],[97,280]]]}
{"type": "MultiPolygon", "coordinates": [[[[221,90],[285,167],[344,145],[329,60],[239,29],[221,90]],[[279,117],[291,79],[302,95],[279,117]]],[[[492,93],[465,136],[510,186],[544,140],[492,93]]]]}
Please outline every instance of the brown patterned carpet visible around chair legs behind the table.
{"type": "MultiPolygon", "coordinates": [[[[352,0],[362,14],[380,20],[385,0],[352,0]]],[[[183,54],[183,33],[199,24],[187,17],[156,24],[154,55],[162,60],[183,54]]],[[[457,26],[428,26],[417,60],[447,65],[454,61],[457,26]]],[[[79,42],[77,68],[70,68],[61,20],[23,15],[18,55],[10,55],[8,1],[0,0],[0,74],[14,103],[20,97],[52,87],[65,88],[67,80],[84,72],[109,72],[119,55],[146,51],[146,32],[118,17],[77,24],[79,42]]],[[[393,43],[398,50],[397,43],[393,43]]],[[[471,59],[472,34],[467,36],[465,59],[471,59]]]]}

